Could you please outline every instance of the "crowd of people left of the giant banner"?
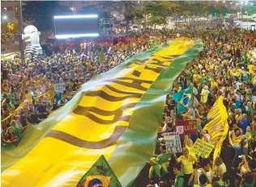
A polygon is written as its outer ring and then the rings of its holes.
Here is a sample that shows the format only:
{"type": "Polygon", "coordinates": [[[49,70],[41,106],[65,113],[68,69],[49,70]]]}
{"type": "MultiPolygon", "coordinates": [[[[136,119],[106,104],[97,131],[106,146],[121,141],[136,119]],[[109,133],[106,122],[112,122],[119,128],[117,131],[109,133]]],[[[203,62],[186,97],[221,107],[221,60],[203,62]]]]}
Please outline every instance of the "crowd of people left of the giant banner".
{"type": "Polygon", "coordinates": [[[156,43],[147,42],[148,39],[148,35],[142,35],[127,44],[111,46],[90,41],[80,52],[66,50],[64,54],[53,53],[41,58],[28,56],[24,63],[19,54],[14,60],[2,60],[1,117],[2,120],[10,118],[10,123],[2,124],[2,143],[17,142],[29,125],[41,122],[51,111],[65,105],[70,101],[69,94],[96,74],[113,69],[167,38],[157,39],[156,43]],[[66,90],[51,97],[48,93],[58,83],[65,83],[66,90]]]}

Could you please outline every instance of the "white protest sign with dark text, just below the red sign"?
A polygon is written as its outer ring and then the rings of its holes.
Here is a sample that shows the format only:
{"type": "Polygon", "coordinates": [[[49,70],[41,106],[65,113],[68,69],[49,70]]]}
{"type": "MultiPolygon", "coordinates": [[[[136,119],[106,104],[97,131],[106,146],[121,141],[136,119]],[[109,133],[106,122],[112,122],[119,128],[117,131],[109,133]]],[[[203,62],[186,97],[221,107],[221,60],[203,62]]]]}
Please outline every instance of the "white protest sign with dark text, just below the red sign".
{"type": "Polygon", "coordinates": [[[164,143],[168,153],[182,152],[181,139],[177,132],[164,133],[164,143]]]}

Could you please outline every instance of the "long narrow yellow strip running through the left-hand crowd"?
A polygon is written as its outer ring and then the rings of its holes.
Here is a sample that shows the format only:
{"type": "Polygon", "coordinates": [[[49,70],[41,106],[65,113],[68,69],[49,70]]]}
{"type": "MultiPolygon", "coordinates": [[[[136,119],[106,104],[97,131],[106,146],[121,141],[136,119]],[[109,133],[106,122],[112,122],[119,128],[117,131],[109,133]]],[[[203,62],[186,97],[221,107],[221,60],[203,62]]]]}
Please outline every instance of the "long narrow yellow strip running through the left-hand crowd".
{"type": "MultiPolygon", "coordinates": [[[[40,96],[37,96],[36,98],[34,98],[34,100],[39,99],[40,102],[42,102],[44,96],[47,96],[47,98],[49,98],[50,104],[53,103],[53,100],[54,100],[54,91],[53,90],[49,90],[45,94],[41,94],[40,96]]],[[[19,107],[15,109],[14,114],[17,114],[17,112],[19,112],[19,109],[25,105],[25,102],[29,102],[30,104],[32,104],[32,98],[24,100],[19,105],[19,107]]],[[[14,114],[10,114],[8,117],[4,118],[1,121],[1,128],[2,128],[3,131],[6,131],[6,126],[11,123],[11,120],[13,119],[14,114]]]]}

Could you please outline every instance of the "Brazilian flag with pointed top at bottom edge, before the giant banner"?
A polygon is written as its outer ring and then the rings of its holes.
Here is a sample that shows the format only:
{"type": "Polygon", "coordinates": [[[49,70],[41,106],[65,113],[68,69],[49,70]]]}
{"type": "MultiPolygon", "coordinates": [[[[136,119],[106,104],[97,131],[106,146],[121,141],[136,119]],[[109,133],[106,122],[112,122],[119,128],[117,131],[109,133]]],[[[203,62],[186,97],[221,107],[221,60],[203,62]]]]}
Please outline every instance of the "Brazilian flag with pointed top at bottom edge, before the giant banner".
{"type": "Polygon", "coordinates": [[[92,165],[80,179],[77,187],[116,186],[122,187],[104,156],[92,165]]]}

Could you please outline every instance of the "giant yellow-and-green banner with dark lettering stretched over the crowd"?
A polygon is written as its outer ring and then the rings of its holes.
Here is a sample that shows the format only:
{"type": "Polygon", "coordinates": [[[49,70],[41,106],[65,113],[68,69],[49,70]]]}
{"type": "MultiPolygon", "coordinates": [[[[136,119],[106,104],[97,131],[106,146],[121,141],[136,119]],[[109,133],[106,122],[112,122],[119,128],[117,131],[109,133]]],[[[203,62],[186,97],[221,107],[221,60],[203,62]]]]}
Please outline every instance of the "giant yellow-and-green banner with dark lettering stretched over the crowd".
{"type": "Polygon", "coordinates": [[[75,186],[102,155],[130,186],[154,154],[166,94],[202,49],[172,39],[87,81],[17,148],[2,148],[2,186],[75,186]]]}

